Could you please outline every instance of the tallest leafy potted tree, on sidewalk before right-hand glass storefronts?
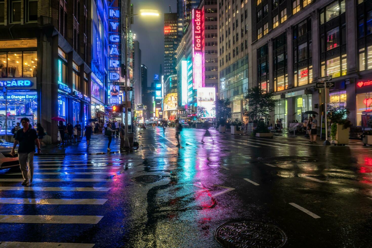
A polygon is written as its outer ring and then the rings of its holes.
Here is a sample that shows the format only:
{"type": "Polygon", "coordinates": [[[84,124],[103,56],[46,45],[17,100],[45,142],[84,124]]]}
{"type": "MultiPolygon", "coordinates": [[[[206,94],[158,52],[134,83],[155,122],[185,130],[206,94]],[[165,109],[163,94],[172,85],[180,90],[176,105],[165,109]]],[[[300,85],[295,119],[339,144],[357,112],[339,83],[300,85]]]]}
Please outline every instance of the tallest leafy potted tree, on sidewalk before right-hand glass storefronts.
{"type": "Polygon", "coordinates": [[[274,93],[266,92],[256,86],[247,90],[244,99],[249,107],[247,112],[244,112],[244,115],[248,117],[249,122],[254,123],[253,135],[257,137],[273,137],[273,133],[270,133],[264,119],[270,120],[271,116],[269,113],[275,108],[274,93]]]}

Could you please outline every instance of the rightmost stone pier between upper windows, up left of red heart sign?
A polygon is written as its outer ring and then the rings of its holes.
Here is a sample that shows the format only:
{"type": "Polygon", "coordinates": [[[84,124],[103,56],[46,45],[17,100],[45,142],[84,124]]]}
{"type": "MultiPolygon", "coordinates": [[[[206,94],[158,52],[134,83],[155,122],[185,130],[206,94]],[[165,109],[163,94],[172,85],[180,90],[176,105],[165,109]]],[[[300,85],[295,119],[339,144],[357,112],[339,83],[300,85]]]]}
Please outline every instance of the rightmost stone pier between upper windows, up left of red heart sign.
{"type": "Polygon", "coordinates": [[[357,72],[355,1],[346,0],[346,53],[347,74],[357,72]]]}

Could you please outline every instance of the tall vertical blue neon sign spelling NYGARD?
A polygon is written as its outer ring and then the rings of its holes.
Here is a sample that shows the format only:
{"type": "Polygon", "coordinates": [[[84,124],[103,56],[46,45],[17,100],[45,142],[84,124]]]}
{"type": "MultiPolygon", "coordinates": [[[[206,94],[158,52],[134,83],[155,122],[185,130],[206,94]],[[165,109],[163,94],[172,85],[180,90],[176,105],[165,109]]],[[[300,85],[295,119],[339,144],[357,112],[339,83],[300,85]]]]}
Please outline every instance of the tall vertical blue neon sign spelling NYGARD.
{"type": "Polygon", "coordinates": [[[120,7],[119,0],[112,0],[109,6],[109,80],[120,79],[120,7]]]}

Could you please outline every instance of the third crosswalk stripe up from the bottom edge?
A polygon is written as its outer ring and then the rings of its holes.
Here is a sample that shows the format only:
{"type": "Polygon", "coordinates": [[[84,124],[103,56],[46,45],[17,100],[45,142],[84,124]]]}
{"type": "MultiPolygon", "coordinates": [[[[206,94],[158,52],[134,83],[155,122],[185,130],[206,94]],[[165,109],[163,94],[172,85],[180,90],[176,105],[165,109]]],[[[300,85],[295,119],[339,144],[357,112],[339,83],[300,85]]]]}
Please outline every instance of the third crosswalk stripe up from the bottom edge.
{"type": "Polygon", "coordinates": [[[28,199],[28,198],[0,198],[0,204],[92,204],[102,205],[108,199],[28,199]]]}

